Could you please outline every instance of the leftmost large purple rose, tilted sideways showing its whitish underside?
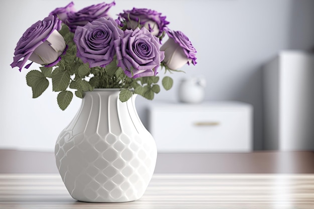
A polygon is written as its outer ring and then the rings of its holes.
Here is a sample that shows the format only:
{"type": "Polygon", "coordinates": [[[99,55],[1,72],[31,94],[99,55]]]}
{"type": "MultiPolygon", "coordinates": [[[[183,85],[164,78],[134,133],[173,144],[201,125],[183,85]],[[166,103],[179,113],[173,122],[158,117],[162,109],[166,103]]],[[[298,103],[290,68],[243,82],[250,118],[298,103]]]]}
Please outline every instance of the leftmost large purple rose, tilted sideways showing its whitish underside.
{"type": "MultiPolygon", "coordinates": [[[[12,68],[19,67],[20,71],[27,62],[48,65],[58,63],[65,50],[65,41],[59,34],[61,21],[49,16],[43,21],[38,21],[23,34],[15,48],[12,68]]],[[[25,68],[30,67],[30,64],[25,68]]]]}

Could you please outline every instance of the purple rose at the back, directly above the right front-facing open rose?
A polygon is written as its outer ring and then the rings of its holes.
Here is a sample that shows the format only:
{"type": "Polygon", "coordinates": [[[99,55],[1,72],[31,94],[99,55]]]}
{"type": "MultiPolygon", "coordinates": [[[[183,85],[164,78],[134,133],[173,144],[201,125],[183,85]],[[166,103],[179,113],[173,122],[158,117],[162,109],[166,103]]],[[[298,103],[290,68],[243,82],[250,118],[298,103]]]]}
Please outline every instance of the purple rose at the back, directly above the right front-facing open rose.
{"type": "Polygon", "coordinates": [[[134,30],[139,22],[139,25],[148,29],[154,36],[161,36],[165,31],[165,27],[169,22],[166,21],[166,17],[162,17],[161,13],[148,9],[136,9],[123,11],[119,14],[127,25],[128,29],[134,30]]]}

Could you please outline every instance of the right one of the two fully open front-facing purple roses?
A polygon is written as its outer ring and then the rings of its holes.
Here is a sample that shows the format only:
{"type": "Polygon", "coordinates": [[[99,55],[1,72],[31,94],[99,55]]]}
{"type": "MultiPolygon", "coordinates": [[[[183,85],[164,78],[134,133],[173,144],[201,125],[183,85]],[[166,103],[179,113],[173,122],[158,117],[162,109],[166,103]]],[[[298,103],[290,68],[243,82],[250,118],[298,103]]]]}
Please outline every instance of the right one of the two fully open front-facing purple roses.
{"type": "Polygon", "coordinates": [[[146,28],[124,31],[124,36],[114,41],[118,65],[128,77],[154,76],[164,52],[159,39],[146,28]]]}

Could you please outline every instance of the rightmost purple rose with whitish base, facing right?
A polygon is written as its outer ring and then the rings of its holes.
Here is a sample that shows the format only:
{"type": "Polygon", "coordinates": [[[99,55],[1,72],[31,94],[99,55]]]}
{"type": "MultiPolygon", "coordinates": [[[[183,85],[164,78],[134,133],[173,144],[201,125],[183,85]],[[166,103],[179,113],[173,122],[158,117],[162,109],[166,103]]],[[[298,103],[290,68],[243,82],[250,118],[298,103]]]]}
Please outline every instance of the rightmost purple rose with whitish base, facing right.
{"type": "Polygon", "coordinates": [[[169,39],[161,47],[165,51],[164,63],[172,70],[177,70],[185,64],[196,65],[196,50],[189,38],[180,31],[167,31],[169,39]]]}

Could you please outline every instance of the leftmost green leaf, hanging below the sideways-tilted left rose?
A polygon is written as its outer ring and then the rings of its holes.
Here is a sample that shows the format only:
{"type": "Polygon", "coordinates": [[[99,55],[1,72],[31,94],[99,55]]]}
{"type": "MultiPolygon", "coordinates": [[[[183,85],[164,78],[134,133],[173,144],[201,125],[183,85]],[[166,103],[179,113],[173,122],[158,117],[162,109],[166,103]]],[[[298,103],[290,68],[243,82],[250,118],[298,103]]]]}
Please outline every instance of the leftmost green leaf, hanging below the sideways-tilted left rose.
{"type": "Polygon", "coordinates": [[[38,70],[32,70],[26,75],[27,85],[32,87],[33,98],[39,97],[49,86],[49,81],[38,70]]]}

